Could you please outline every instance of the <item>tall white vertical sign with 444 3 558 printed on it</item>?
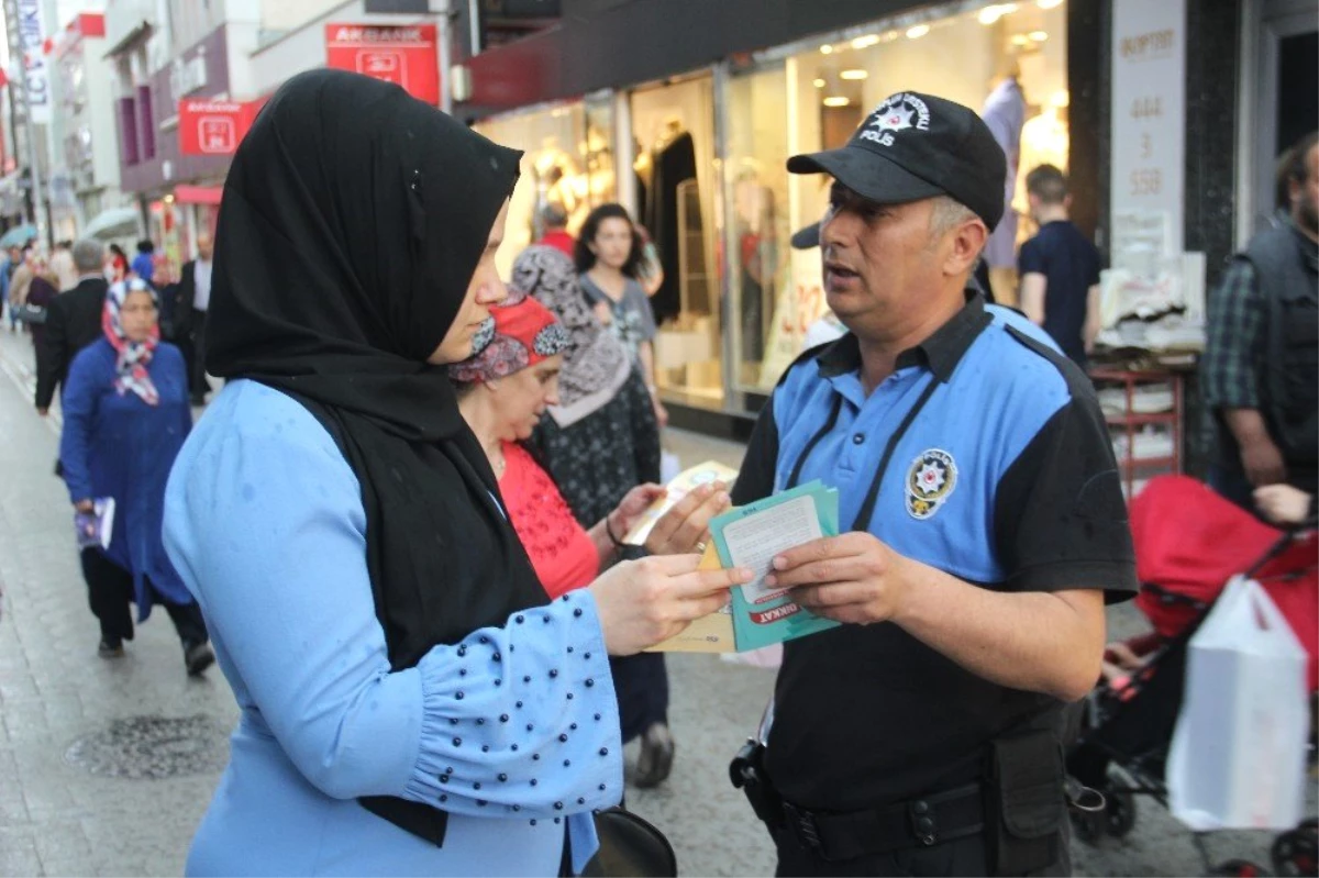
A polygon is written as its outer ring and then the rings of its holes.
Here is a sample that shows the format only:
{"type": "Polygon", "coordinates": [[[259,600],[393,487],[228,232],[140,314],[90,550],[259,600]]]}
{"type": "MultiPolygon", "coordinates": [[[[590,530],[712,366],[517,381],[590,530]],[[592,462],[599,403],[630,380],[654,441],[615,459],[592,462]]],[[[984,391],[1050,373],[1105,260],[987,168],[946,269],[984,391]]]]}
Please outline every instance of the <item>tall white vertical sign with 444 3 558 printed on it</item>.
{"type": "Polygon", "coordinates": [[[1119,221],[1162,231],[1166,254],[1183,248],[1186,0],[1113,0],[1109,192],[1119,221]]]}

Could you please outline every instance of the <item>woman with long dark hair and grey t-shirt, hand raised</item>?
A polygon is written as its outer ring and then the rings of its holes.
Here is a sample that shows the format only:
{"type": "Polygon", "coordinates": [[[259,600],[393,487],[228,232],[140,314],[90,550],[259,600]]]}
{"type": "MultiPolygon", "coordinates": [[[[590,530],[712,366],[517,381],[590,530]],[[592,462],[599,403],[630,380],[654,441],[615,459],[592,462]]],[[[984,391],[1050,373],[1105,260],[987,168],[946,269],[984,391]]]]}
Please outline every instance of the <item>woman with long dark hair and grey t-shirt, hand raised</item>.
{"type": "Polygon", "coordinates": [[[645,243],[621,204],[601,204],[582,224],[574,260],[582,291],[600,323],[609,327],[640,364],[660,426],[669,413],[656,385],[656,318],[650,299],[637,281],[645,243]]]}

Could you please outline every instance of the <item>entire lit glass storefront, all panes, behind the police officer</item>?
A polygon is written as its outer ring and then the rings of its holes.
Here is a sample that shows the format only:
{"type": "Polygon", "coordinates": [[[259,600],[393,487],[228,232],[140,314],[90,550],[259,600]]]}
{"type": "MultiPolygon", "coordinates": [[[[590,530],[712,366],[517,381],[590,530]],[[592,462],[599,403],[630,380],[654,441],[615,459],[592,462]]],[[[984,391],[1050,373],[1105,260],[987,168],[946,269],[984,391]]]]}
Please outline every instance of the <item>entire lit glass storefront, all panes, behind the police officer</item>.
{"type": "Polygon", "coordinates": [[[910,90],[979,111],[1009,154],[1014,210],[985,261],[996,297],[1013,303],[1017,247],[1034,232],[1026,173],[1067,170],[1066,37],[1066,0],[960,0],[481,121],[477,131],[528,153],[501,269],[539,236],[541,206],[561,203],[575,235],[591,207],[621,198],[665,273],[652,298],[663,399],[753,410],[827,310],[819,250],[789,241],[823,215],[828,178],[790,175],[786,158],[842,146],[884,98],[910,90]]]}

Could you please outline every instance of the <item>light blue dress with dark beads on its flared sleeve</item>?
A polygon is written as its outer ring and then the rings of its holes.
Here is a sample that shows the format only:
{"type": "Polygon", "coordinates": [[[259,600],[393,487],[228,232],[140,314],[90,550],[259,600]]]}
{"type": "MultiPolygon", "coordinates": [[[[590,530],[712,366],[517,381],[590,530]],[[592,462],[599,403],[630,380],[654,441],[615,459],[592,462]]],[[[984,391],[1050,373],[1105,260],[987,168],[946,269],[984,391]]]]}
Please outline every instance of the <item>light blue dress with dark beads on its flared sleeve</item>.
{"type": "Polygon", "coordinates": [[[623,794],[588,591],[390,672],[357,480],[306,409],[249,381],[198,422],[165,505],[241,708],[187,875],[553,878],[566,828],[584,865],[590,812],[623,794]],[[371,795],[447,811],[443,845],[368,812],[371,795]]]}

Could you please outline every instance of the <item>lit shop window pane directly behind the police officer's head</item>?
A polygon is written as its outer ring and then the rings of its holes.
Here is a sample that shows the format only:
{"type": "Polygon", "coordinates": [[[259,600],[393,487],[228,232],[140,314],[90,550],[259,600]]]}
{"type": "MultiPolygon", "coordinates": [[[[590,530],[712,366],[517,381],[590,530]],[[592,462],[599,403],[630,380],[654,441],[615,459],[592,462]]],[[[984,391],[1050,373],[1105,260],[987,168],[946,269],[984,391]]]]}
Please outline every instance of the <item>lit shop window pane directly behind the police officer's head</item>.
{"type": "MultiPolygon", "coordinates": [[[[1066,18],[1063,3],[956,4],[761,53],[732,71],[724,235],[736,390],[772,390],[826,308],[819,250],[794,252],[787,239],[824,212],[828,178],[790,175],[785,158],[842,146],[894,91],[936,94],[989,121],[1020,169],[1005,202],[1024,215],[1026,173],[1067,167],[1066,18]]],[[[1016,244],[1031,233],[1029,220],[1013,219],[985,253],[1006,302],[1016,298],[1016,244]]]]}

